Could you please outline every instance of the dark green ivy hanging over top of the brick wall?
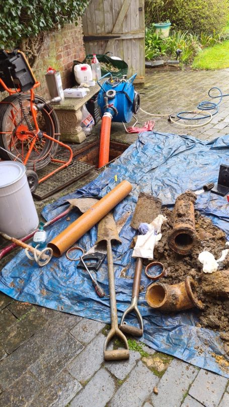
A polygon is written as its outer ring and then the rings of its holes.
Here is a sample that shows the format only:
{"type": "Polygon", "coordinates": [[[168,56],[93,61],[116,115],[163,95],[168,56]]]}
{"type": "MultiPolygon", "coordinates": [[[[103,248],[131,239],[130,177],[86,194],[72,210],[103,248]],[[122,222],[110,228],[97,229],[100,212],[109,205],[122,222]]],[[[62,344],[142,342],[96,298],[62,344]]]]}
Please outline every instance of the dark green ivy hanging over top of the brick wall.
{"type": "Polygon", "coordinates": [[[82,16],[88,0],[4,0],[0,8],[0,48],[20,47],[33,65],[47,31],[82,16]]]}

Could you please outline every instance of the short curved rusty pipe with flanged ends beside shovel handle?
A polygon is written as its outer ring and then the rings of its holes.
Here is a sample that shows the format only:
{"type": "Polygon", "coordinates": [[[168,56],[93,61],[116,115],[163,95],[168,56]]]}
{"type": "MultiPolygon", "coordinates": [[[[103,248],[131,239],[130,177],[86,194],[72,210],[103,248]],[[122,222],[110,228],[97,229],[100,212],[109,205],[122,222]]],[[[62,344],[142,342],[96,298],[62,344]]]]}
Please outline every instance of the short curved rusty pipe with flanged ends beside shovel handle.
{"type": "Polygon", "coordinates": [[[163,312],[178,312],[197,307],[203,308],[203,304],[195,295],[195,283],[188,276],[179,284],[150,284],[146,290],[145,299],[152,308],[163,312]]]}

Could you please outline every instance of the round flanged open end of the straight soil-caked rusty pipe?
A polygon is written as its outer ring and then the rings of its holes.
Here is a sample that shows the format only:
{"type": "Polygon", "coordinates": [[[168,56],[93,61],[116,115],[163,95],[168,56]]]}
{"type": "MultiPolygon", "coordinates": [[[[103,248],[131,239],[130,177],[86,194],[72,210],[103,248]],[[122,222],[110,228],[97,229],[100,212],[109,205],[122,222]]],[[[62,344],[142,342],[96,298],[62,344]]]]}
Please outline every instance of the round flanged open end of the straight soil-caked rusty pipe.
{"type": "Polygon", "coordinates": [[[195,242],[196,233],[189,227],[173,229],[168,235],[169,248],[180,255],[190,254],[195,242]]]}

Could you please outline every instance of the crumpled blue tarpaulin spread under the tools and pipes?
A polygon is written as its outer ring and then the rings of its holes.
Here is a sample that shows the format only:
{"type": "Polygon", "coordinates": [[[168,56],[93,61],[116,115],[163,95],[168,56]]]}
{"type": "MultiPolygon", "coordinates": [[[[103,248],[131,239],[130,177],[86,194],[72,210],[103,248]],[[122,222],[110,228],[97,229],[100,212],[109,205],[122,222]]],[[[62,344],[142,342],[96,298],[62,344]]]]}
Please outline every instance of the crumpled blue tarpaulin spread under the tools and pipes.
{"type": "MultiPolygon", "coordinates": [[[[172,207],[182,192],[200,189],[209,181],[217,183],[219,165],[227,164],[229,158],[228,144],[229,135],[206,142],[190,136],[141,133],[138,140],[94,181],[44,208],[42,214],[48,220],[67,207],[67,198],[101,198],[115,187],[115,175],[118,182],[128,180],[132,184],[132,193],[114,209],[115,221],[123,213],[130,212],[120,232],[122,244],[113,246],[119,318],[131,300],[135,260],[131,258],[130,243],[136,232],[130,227],[130,222],[139,192],[151,193],[159,197],[163,205],[172,207]],[[127,271],[123,277],[121,272],[124,268],[127,271]]],[[[207,192],[198,196],[195,207],[210,217],[228,236],[229,207],[225,198],[207,192]]],[[[70,221],[73,221],[80,213],[72,211],[69,216],[70,221]]],[[[68,225],[69,221],[64,218],[48,227],[48,240],[68,225]]],[[[78,245],[88,251],[96,239],[97,226],[94,226],[78,241],[78,245]]],[[[108,295],[106,260],[97,272],[97,279],[108,295]]],[[[144,287],[149,284],[144,273],[141,284],[144,287]]],[[[39,268],[21,251],[2,270],[0,290],[20,301],[110,322],[109,297],[100,299],[92,289],[87,273],[65,256],[53,258],[47,266],[39,268]]],[[[224,355],[226,358],[217,332],[197,328],[197,320],[192,312],[171,316],[152,311],[144,297],[145,290],[139,297],[139,308],[144,319],[142,342],[158,351],[229,377],[229,371],[221,367],[213,355],[224,355]]],[[[129,323],[135,322],[134,318],[130,318],[129,323]]]]}

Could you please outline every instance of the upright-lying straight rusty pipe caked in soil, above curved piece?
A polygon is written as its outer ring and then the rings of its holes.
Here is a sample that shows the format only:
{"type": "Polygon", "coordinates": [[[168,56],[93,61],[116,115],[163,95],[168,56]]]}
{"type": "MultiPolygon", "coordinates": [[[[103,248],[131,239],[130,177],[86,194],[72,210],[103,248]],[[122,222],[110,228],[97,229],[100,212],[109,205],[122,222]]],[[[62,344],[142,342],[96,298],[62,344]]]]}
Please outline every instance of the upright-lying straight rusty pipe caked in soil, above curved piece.
{"type": "Polygon", "coordinates": [[[192,252],[196,240],[194,203],[197,196],[187,191],[177,197],[175,202],[173,229],[168,236],[170,249],[181,255],[192,252]]]}

